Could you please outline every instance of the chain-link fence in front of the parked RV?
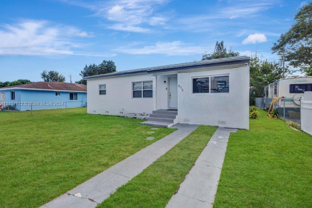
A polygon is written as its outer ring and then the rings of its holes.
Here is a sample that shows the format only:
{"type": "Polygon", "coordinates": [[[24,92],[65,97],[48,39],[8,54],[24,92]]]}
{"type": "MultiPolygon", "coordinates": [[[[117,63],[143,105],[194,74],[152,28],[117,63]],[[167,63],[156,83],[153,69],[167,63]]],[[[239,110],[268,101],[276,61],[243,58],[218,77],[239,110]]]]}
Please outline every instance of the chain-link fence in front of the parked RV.
{"type": "MultiPolygon", "coordinates": [[[[272,98],[256,98],[256,106],[268,110],[272,98]]],[[[275,102],[274,108],[278,111],[278,117],[285,121],[292,121],[300,125],[300,99],[280,98],[275,102]]]]}

